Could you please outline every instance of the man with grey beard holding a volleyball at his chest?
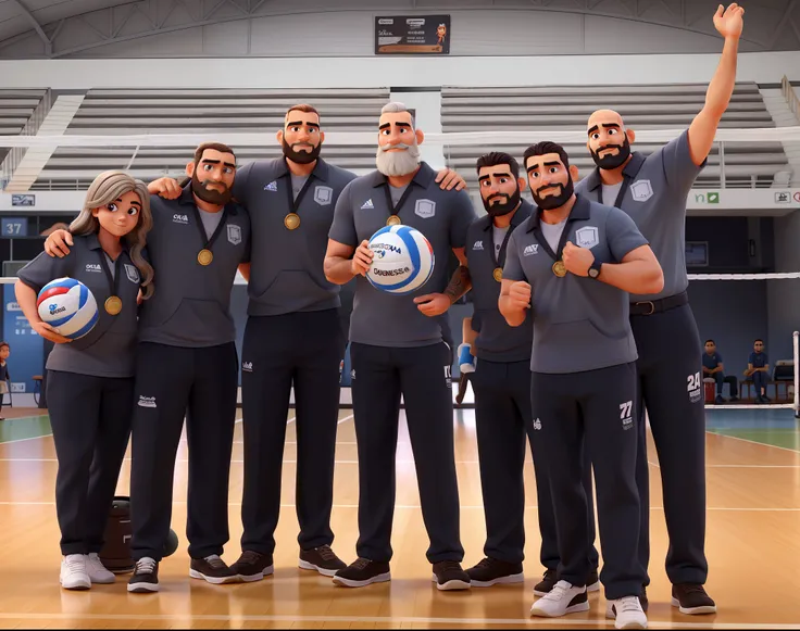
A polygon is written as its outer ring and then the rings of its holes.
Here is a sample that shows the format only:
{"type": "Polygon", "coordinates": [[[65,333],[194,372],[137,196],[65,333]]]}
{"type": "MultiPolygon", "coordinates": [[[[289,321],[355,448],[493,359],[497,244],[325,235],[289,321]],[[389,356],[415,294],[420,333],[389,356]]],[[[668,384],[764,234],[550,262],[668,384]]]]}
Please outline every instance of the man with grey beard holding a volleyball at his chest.
{"type": "Polygon", "coordinates": [[[350,356],[359,451],[359,558],[338,571],[334,582],[360,588],[391,579],[402,395],[433,580],[439,590],[463,590],[470,588],[470,576],[461,568],[451,354],[442,342],[439,316],[470,289],[464,245],[475,211],[466,192],[436,186],[435,172],[420,160],[424,135],[402,103],[384,106],[377,131],[377,171],[355,178],[342,191],[325,256],[328,280],[345,285],[357,279],[350,356]],[[437,264],[426,285],[397,295],[373,287],[365,275],[373,257],[368,239],[384,226],[401,225],[427,238],[437,264]],[[448,285],[441,262],[450,252],[461,265],[448,285]]]}

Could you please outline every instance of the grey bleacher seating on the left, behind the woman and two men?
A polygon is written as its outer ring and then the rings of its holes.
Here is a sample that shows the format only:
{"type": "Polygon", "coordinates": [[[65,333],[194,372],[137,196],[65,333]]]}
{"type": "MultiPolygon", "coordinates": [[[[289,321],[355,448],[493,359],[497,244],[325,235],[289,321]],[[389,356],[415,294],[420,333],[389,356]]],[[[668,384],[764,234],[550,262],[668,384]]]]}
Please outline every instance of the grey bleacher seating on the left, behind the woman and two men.
{"type": "MultiPolygon", "coordinates": [[[[109,147],[59,147],[33,189],[86,188],[108,168],[124,168],[145,181],[180,175],[193,146],[113,147],[115,135],[275,132],[284,125],[286,110],[298,103],[321,112],[325,131],[374,131],[388,88],[329,90],[90,90],[67,135],[108,135],[109,147]]],[[[235,148],[239,165],[277,157],[280,148],[235,148]]],[[[371,147],[326,143],[324,156],[332,164],[363,173],[375,168],[371,147]]]]}

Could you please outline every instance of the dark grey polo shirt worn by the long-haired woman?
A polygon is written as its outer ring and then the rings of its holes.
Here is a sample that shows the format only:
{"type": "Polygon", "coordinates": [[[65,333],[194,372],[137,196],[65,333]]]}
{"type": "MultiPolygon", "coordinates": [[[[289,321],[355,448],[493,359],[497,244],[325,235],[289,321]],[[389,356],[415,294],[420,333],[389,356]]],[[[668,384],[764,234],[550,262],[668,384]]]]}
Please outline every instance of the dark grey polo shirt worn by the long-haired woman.
{"type": "Polygon", "coordinates": [[[20,279],[37,293],[51,280],[74,278],[91,291],[97,302],[100,315],[95,328],[74,342],[55,344],[48,356],[47,368],[93,377],[133,377],[138,313],[136,296],[141,282],[139,270],[123,244],[123,251],[114,263],[113,281],[114,294],[122,300],[122,311],[112,316],[104,308],[105,300],[112,295],[103,272],[108,257],[97,235],[74,237],[73,241],[70,254],[63,258],[42,252],[18,274],[20,279]]]}

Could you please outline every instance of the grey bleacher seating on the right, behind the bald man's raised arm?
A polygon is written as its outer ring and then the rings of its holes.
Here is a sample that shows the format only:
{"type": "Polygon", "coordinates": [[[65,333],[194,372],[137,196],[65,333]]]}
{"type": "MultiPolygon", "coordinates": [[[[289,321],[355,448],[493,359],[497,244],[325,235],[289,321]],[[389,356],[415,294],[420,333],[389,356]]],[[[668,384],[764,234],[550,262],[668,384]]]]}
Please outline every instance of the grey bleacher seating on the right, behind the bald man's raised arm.
{"type": "MultiPolygon", "coordinates": [[[[632,129],[686,128],[702,109],[708,85],[665,86],[585,86],[539,88],[459,88],[446,87],[441,94],[442,131],[485,131],[501,129],[541,130],[536,138],[522,137],[513,144],[491,147],[507,151],[517,160],[526,147],[547,140],[547,130],[585,129],[595,110],[618,111],[632,129]]],[[[721,127],[774,127],[755,84],[737,84],[730,105],[721,127]]],[[[659,144],[636,143],[636,150],[650,153],[659,144]]],[[[580,177],[595,164],[584,144],[566,144],[571,162],[580,177]]],[[[448,166],[464,175],[471,185],[477,184],[475,160],[489,150],[479,146],[446,147],[448,166]]],[[[784,149],[778,142],[725,142],[726,187],[770,187],[776,173],[788,168],[784,149]]],[[[697,180],[698,188],[720,186],[720,153],[715,143],[709,164],[697,180]]]]}

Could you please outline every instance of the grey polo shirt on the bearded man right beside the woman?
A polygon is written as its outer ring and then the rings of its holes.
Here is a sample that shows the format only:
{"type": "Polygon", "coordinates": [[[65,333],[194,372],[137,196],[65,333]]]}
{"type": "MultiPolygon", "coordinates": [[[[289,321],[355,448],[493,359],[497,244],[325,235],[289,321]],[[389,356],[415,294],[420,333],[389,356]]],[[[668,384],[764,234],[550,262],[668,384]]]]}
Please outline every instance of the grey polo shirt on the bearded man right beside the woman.
{"type": "Polygon", "coordinates": [[[250,218],[232,202],[225,206],[213,243],[208,244],[191,188],[177,200],[150,195],[153,229],[148,252],[157,291],[145,302],[139,339],[187,349],[216,346],[236,339],[230,290],[236,270],[250,261],[250,218]],[[200,265],[200,250],[214,258],[200,265]]]}

